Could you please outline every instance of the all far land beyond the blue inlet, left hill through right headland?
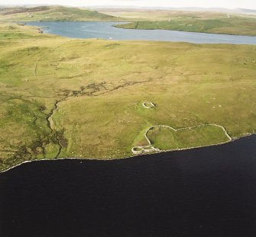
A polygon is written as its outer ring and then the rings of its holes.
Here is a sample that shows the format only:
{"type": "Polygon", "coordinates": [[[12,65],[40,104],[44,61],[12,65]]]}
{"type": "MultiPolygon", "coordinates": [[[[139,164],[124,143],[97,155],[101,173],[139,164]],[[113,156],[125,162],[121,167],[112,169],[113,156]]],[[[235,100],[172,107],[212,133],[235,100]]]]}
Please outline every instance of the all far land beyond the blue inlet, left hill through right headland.
{"type": "Polygon", "coordinates": [[[256,36],[256,16],[164,10],[100,10],[63,6],[0,8],[0,21],[131,21],[116,27],[256,36]]]}

